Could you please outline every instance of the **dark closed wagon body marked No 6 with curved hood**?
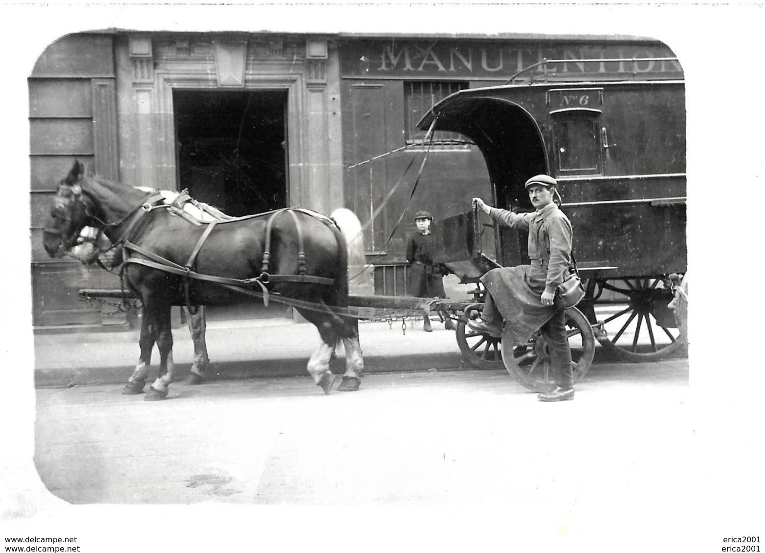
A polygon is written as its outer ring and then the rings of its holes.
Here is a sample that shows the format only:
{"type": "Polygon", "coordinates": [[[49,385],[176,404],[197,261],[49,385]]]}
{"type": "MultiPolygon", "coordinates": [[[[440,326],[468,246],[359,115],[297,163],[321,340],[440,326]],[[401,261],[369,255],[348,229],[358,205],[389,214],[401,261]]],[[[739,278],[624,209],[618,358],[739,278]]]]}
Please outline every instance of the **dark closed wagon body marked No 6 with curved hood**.
{"type": "MultiPolygon", "coordinates": [[[[578,265],[601,278],[685,272],[682,81],[539,83],[455,93],[421,128],[460,132],[487,162],[494,205],[532,210],[533,174],[558,179],[578,265]]],[[[497,261],[527,261],[526,236],[496,229],[497,261]]]]}

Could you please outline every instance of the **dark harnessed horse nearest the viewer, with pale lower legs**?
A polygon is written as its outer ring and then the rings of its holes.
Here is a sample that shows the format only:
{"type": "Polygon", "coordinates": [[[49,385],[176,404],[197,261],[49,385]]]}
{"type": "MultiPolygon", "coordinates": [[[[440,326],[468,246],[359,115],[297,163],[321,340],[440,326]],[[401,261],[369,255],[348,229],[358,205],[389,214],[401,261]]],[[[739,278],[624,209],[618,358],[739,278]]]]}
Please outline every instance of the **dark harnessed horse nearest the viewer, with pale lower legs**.
{"type": "Polygon", "coordinates": [[[308,373],[325,394],[334,384],[329,362],[342,340],[346,369],[339,390],[356,391],[363,374],[358,320],[347,309],[348,266],[363,265],[361,225],[350,210],[331,217],[286,209],[196,226],[167,209],[160,194],[88,177],[75,161],[58,186],[43,230],[52,258],[77,245],[86,226],[122,247],[121,278],[143,304],[140,355],[123,393],[140,394],[151,350],[158,376],[148,401],[167,398],[173,381],[172,305],[283,301],[317,327],[320,342],[308,373]]]}

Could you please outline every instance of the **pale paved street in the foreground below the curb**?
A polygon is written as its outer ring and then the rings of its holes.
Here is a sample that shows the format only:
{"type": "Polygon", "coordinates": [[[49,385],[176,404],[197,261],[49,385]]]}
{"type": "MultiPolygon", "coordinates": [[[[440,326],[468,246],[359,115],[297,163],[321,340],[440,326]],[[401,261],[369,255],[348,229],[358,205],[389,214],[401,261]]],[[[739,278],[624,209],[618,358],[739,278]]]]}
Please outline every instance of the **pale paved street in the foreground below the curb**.
{"type": "Polygon", "coordinates": [[[176,384],[158,403],[121,385],[37,389],[34,460],[69,503],[565,509],[614,493],[604,470],[649,491],[684,454],[687,384],[676,359],[593,366],[560,404],[498,370],[374,374],[328,397],[307,377],[176,384]]]}

